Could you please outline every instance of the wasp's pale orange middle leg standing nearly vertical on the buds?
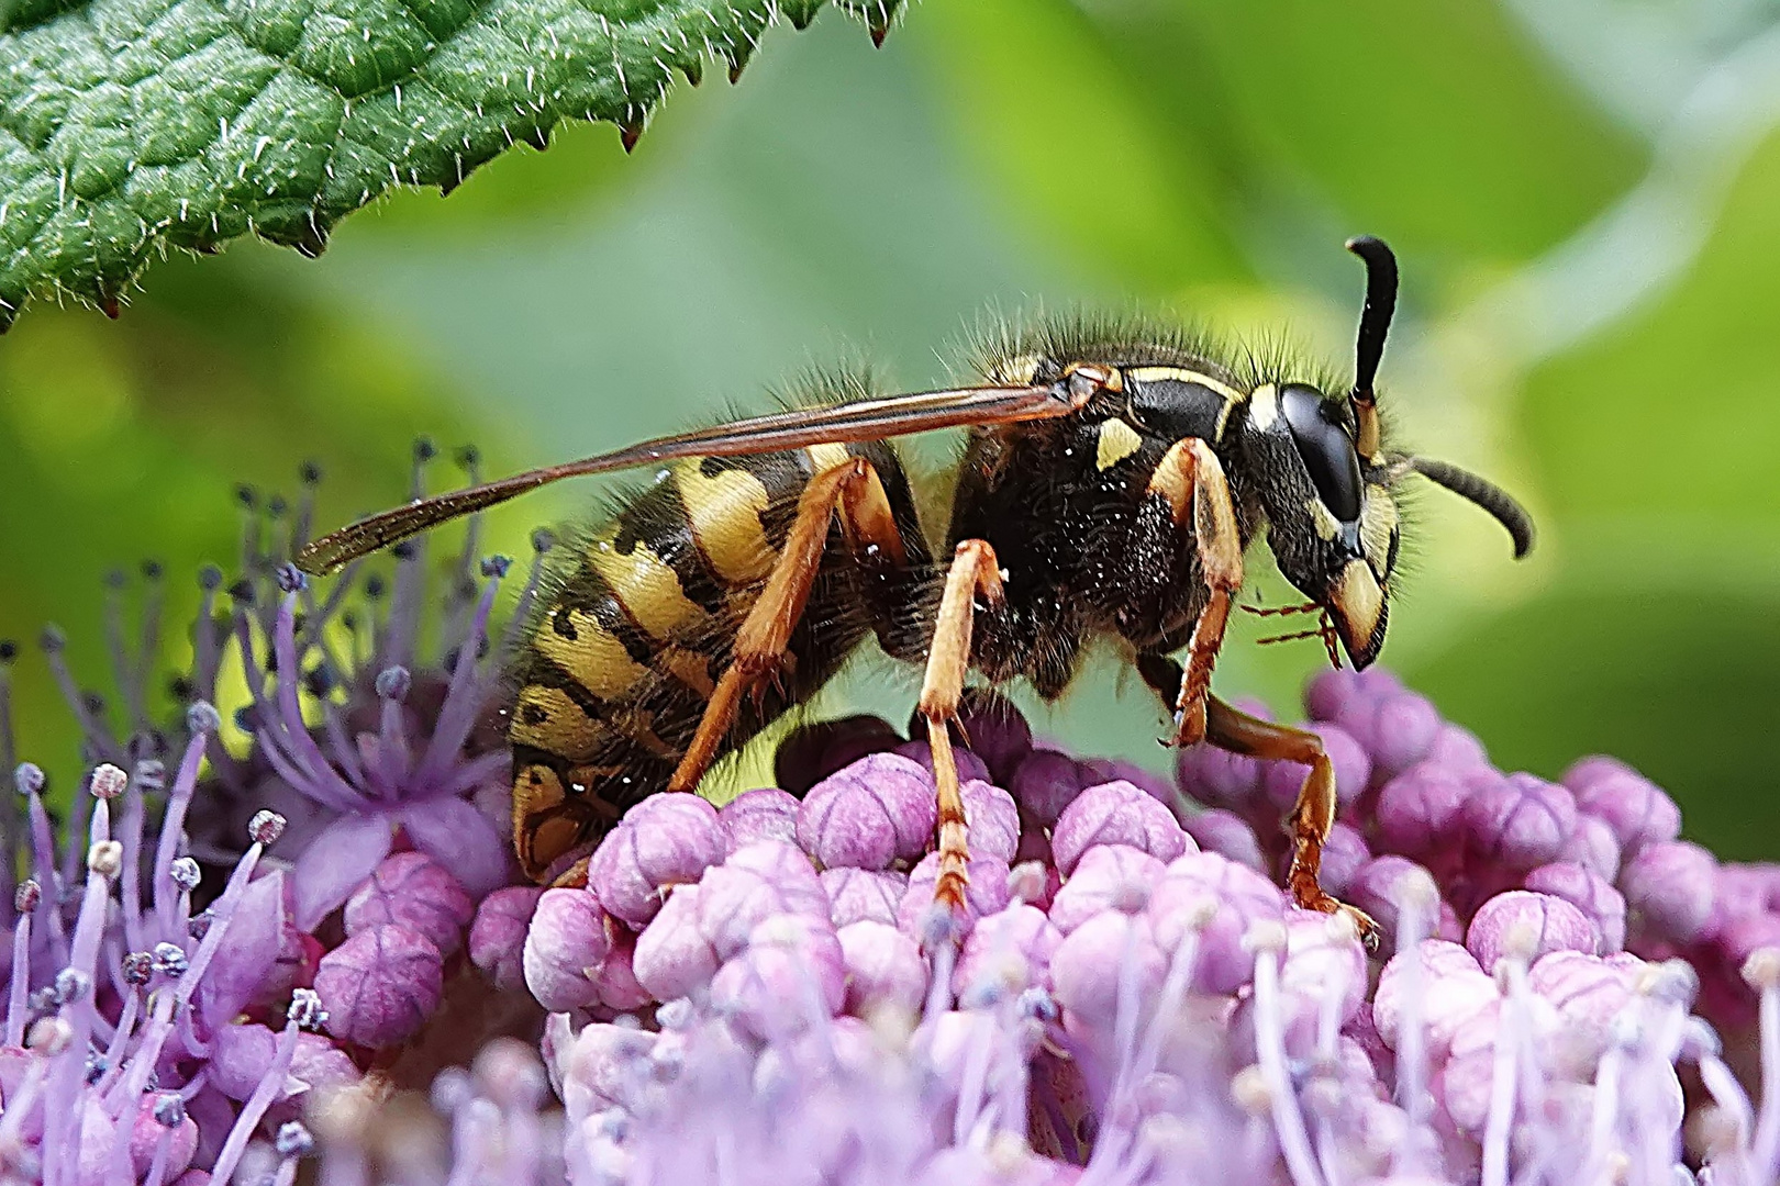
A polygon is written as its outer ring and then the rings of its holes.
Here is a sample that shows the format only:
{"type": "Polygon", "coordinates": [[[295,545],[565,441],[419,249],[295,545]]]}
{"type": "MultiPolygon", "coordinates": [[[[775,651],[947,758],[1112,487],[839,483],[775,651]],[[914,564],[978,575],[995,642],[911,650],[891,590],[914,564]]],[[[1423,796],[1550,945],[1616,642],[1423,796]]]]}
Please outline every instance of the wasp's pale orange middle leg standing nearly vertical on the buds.
{"type": "Polygon", "coordinates": [[[1000,562],[984,541],[967,539],[958,544],[952,569],[945,574],[945,592],[933,622],[933,645],[927,649],[927,672],[920,681],[920,715],[927,718],[933,782],[940,798],[940,877],[933,885],[933,898],[952,909],[965,905],[965,864],[970,850],[951,722],[958,718],[965,672],[970,670],[970,628],[979,594],[990,606],[1002,603],[1000,562]]]}

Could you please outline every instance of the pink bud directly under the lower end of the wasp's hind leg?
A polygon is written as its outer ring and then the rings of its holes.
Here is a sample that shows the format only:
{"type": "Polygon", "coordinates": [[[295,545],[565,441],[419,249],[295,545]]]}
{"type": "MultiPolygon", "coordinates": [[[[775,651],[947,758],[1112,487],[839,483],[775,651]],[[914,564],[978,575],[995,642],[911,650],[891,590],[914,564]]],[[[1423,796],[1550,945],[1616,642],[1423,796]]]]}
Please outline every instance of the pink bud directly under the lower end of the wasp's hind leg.
{"type": "Polygon", "coordinates": [[[587,862],[587,884],[614,916],[643,926],[666,885],[691,884],[723,861],[717,809],[698,795],[650,795],[625,813],[587,862]]]}

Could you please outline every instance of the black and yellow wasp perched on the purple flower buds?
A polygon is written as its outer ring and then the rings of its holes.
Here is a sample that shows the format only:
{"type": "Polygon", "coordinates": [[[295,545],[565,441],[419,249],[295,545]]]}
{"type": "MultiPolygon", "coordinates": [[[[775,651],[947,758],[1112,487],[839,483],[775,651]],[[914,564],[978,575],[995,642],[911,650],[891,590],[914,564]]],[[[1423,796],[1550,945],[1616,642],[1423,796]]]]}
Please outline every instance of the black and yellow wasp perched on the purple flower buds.
{"type": "Polygon", "coordinates": [[[1517,557],[1533,523],[1490,482],[1387,448],[1374,377],[1397,261],[1378,238],[1347,249],[1367,288],[1344,393],[1180,329],[1072,318],[1006,333],[968,386],[878,395],[829,379],[805,407],[397,507],[308,544],[297,564],[338,571],[561,478],[657,469],[580,533],[513,658],[513,837],[534,880],[639,798],[694,789],[876,637],[922,669],[936,898],[959,905],[968,837],[951,724],[967,683],[1025,681],[1052,701],[1084,649],[1111,642],[1173,711],[1168,741],[1308,766],[1285,821],[1287,885],[1301,907],[1349,910],[1317,884],[1335,820],[1319,738],[1210,690],[1244,553],[1264,535],[1323,615],[1312,633],[1330,658],[1339,644],[1363,669],[1385,642],[1404,478],[1492,514],[1517,557]],[[929,533],[894,437],[958,427],[951,521],[929,533]]]}

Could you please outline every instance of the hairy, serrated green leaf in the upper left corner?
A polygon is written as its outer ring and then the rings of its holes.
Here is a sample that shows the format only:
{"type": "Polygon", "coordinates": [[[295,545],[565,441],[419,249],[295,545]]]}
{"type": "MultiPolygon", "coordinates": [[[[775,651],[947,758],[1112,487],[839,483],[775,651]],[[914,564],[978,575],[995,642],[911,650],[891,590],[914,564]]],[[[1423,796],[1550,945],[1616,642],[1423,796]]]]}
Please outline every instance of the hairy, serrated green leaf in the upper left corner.
{"type": "MultiPolygon", "coordinates": [[[[826,0],[0,0],[0,327],[116,313],[151,252],[306,254],[392,185],[450,188],[562,119],[632,137],[673,71],[737,76],[826,0]]],[[[899,0],[835,0],[881,37],[899,0]]]]}

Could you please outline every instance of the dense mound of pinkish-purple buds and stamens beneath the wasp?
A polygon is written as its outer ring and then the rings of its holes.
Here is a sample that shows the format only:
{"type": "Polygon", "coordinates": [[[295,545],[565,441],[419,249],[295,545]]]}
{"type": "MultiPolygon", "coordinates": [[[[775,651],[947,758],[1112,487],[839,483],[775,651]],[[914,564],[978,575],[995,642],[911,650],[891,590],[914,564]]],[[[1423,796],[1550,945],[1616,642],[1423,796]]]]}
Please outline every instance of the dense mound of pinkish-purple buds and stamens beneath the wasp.
{"type": "Polygon", "coordinates": [[[1739,958],[1718,919],[1768,916],[1714,914],[1759,873],[1689,864],[1616,763],[1504,775],[1388,676],[1307,699],[1326,884],[1388,962],[1278,889],[1301,766],[1194,749],[1177,788],[995,699],[963,918],[933,909],[926,747],[870,720],[785,745],[801,800],[634,807],[523,939],[491,900],[477,958],[554,1012],[571,1181],[1771,1181],[1780,948],[1739,958]],[[1762,1012],[1760,1108],[1696,1014],[1714,978],[1762,1012]]]}

